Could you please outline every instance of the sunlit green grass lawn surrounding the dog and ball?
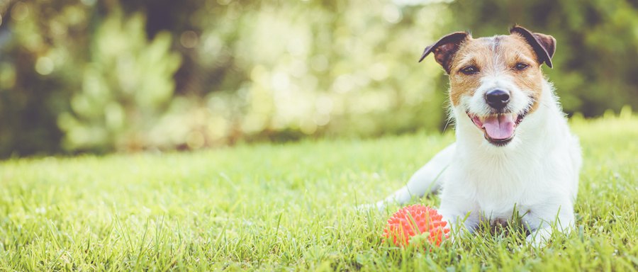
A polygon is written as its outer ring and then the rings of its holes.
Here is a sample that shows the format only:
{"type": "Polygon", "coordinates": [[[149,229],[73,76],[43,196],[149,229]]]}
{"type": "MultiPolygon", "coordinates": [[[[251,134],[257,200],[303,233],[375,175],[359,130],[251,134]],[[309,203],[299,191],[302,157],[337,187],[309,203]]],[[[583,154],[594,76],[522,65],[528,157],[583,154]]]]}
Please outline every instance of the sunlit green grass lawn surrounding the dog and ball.
{"type": "Polygon", "coordinates": [[[638,117],[571,125],[584,156],[577,227],[539,249],[516,234],[431,250],[381,243],[388,213],[354,206],[400,188],[454,140],[421,133],[1,162],[0,269],[635,271],[638,117]]]}

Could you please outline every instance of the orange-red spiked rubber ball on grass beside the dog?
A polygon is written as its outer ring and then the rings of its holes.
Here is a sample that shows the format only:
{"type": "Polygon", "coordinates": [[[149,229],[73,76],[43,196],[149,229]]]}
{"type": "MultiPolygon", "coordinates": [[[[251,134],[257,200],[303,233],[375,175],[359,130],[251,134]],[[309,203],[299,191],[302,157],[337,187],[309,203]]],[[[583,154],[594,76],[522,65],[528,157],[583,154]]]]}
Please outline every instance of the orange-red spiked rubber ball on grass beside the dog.
{"type": "Polygon", "coordinates": [[[410,239],[420,237],[439,246],[449,238],[449,227],[437,210],[424,205],[410,205],[395,212],[384,229],[384,240],[397,246],[408,246],[410,239]]]}

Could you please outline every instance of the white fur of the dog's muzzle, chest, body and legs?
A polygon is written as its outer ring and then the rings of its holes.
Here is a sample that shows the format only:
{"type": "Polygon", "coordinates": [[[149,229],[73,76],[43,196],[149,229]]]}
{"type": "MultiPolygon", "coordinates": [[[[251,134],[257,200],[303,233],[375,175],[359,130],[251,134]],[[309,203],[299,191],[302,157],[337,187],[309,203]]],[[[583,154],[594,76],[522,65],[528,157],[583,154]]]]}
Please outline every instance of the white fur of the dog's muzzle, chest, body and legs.
{"type": "Polygon", "coordinates": [[[451,225],[474,230],[481,218],[508,220],[516,207],[532,230],[527,239],[542,244],[552,226],[569,232],[573,226],[573,203],[578,191],[581,149],[571,134],[554,89],[543,81],[539,108],[515,129],[513,140],[503,147],[492,145],[476,128],[466,111],[485,114],[483,94],[488,89],[511,91],[508,107],[522,112],[530,106],[526,90],[500,75],[486,77],[473,96],[452,107],[457,142],[419,169],[407,186],[376,204],[406,203],[441,187],[439,212],[451,225]],[[467,217],[466,220],[463,219],[467,217]]]}

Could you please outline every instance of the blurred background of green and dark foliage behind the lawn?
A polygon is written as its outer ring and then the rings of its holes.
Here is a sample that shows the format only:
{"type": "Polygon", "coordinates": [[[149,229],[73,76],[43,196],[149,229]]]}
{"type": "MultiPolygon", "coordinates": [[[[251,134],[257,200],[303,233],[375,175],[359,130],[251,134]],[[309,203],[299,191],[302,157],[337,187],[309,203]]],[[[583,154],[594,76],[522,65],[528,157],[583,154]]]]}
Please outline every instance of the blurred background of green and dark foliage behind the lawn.
{"type": "Polygon", "coordinates": [[[422,49],[558,40],[570,115],[638,106],[638,1],[0,0],[0,158],[443,130],[422,49]]]}

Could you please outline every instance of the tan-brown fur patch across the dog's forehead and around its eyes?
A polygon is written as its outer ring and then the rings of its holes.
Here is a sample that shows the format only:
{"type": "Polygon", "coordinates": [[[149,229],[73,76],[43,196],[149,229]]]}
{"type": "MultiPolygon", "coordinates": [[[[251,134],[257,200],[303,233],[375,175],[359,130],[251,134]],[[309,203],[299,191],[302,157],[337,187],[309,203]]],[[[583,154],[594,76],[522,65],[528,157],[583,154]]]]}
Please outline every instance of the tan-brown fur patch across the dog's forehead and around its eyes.
{"type": "Polygon", "coordinates": [[[521,35],[499,35],[491,38],[469,38],[461,43],[450,65],[449,97],[454,106],[459,105],[462,96],[471,96],[481,84],[481,77],[498,74],[512,77],[523,91],[528,91],[534,103],[530,112],[538,108],[542,92],[543,74],[538,57],[521,35]],[[529,65],[526,69],[515,69],[516,64],[529,65]],[[478,68],[476,74],[464,74],[461,69],[469,66],[478,68]]]}

